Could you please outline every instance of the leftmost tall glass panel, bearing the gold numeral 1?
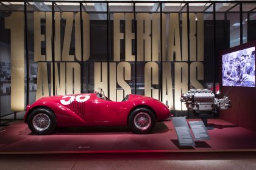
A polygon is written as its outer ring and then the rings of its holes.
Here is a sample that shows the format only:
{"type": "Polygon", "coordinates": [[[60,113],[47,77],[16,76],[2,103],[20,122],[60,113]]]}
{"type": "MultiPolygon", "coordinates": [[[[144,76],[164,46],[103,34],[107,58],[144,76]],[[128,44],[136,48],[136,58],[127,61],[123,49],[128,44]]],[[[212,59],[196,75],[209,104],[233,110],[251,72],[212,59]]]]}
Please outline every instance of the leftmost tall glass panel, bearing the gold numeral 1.
{"type": "MultiPolygon", "coordinates": [[[[24,2],[0,4],[0,9],[0,116],[2,120],[13,119],[14,115],[7,117],[5,115],[25,109],[27,85],[24,13],[21,11],[24,10],[24,2]],[[16,11],[11,12],[12,9],[16,11]]],[[[18,114],[19,118],[22,116],[18,114]]]]}

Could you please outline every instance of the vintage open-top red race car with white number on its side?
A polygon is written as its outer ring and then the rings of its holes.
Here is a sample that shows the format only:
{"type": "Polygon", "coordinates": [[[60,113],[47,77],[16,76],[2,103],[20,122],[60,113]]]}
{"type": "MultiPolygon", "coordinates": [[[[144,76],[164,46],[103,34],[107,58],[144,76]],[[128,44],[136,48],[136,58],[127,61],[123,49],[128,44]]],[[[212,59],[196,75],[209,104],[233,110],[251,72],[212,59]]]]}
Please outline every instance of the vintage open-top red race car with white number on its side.
{"type": "Polygon", "coordinates": [[[142,95],[126,95],[121,102],[104,92],[44,97],[27,105],[24,121],[38,135],[52,134],[57,127],[130,126],[132,132],[146,134],[156,121],[170,120],[171,112],[161,101],[142,95]]]}

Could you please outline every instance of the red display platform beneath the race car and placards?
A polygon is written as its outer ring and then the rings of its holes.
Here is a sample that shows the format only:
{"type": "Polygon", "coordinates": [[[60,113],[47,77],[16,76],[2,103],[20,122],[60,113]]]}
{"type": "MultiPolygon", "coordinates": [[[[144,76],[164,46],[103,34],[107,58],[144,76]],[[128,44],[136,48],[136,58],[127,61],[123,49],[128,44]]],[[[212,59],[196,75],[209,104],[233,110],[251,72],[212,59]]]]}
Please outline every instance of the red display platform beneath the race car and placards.
{"type": "Polygon", "coordinates": [[[221,119],[208,123],[215,127],[208,131],[210,140],[179,146],[172,121],[157,123],[153,133],[146,135],[118,126],[61,128],[56,134],[41,136],[18,121],[0,129],[0,154],[256,151],[255,132],[221,119]]]}

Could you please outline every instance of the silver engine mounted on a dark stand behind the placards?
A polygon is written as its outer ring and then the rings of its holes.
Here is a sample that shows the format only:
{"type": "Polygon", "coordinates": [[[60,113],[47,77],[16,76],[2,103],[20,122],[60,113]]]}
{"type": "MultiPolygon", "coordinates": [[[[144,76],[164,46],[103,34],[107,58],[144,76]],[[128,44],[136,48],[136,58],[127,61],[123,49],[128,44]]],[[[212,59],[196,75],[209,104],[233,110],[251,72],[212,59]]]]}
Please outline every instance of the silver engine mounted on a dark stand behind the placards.
{"type": "Polygon", "coordinates": [[[185,102],[188,109],[193,109],[194,114],[202,118],[205,127],[208,126],[208,117],[212,113],[216,113],[217,109],[223,110],[231,107],[229,97],[216,98],[212,90],[209,89],[191,89],[182,94],[180,101],[185,102]]]}

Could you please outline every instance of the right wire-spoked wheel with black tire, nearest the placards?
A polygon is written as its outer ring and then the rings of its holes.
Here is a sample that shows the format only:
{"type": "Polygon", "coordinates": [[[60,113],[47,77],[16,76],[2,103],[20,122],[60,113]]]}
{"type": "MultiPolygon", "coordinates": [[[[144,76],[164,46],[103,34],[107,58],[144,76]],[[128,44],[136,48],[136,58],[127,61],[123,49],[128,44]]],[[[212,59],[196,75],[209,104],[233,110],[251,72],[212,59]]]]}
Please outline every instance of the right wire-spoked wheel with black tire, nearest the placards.
{"type": "Polygon", "coordinates": [[[129,126],[135,134],[148,134],[155,127],[155,115],[151,109],[138,107],[129,116],[129,126]]]}

